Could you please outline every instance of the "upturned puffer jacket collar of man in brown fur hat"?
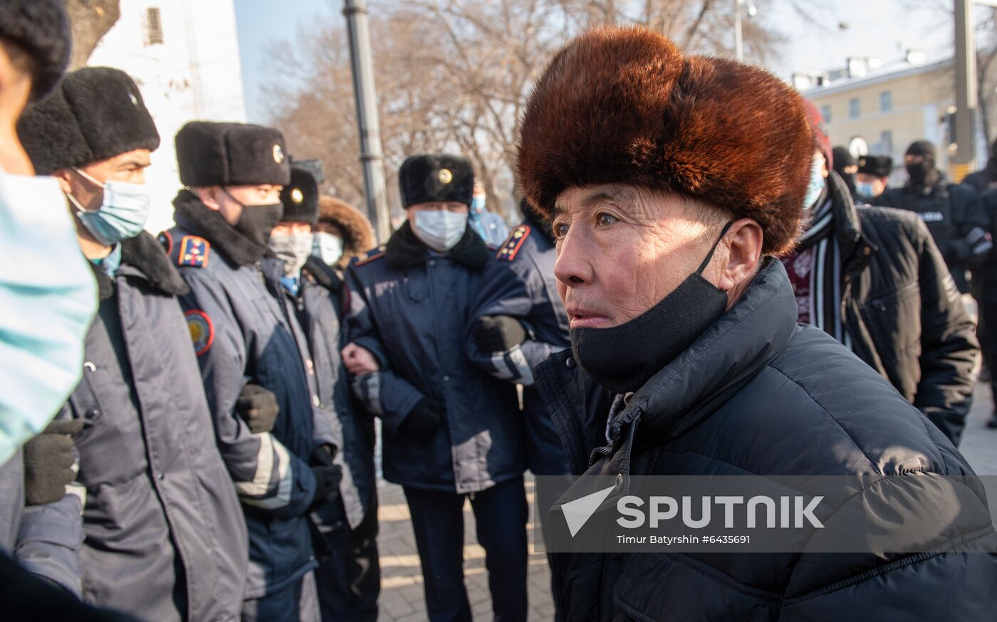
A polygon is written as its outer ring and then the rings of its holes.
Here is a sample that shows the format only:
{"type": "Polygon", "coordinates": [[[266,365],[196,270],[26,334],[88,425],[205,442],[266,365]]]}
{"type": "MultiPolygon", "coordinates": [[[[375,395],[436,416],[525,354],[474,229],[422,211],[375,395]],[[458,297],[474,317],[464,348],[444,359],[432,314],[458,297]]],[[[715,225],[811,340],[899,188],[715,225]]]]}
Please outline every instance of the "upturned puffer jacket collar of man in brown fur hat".
{"type": "Polygon", "coordinates": [[[632,439],[628,455],[683,434],[750,382],[797,330],[790,279],[782,262],[769,257],[741,299],[630,397],[610,438],[632,439]]]}

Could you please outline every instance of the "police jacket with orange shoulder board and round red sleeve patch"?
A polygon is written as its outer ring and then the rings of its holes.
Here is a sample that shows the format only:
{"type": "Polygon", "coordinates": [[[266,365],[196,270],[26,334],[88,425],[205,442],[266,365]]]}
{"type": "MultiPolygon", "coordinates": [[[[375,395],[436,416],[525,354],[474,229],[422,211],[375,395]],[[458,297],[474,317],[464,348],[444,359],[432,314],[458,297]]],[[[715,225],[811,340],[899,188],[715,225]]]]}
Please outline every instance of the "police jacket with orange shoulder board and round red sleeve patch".
{"type": "Polygon", "coordinates": [[[265,249],[186,190],[173,204],[177,224],[160,241],[190,288],[180,297],[188,339],[249,532],[245,597],[259,598],[315,567],[307,517],[315,495],[307,465],[316,445],[312,399],[292,329],[264,284],[265,249]],[[280,414],[270,433],[252,434],[235,412],[249,383],[276,396],[280,414]]]}

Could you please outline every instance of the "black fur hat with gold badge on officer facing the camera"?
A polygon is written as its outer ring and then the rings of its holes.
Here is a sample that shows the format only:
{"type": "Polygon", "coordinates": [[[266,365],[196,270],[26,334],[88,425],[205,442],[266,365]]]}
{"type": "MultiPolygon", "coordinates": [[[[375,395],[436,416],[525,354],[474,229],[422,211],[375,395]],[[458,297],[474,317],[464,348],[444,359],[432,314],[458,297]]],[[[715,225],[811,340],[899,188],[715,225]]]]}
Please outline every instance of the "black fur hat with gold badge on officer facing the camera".
{"type": "Polygon", "coordinates": [[[398,170],[402,206],[435,201],[471,204],[475,191],[475,171],[460,155],[413,155],[398,170]]]}

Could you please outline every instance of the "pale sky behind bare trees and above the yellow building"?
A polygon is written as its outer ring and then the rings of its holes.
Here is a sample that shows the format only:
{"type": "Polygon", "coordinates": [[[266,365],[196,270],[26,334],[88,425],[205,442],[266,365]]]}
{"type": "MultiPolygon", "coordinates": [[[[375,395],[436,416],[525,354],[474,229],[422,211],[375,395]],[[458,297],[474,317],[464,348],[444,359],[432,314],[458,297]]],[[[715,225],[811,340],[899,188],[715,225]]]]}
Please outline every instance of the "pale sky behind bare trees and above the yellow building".
{"type": "MultiPolygon", "coordinates": [[[[300,25],[319,19],[345,19],[342,0],[234,0],[242,76],[249,121],[265,123],[269,107],[261,88],[271,78],[267,55],[292,41],[300,25]]],[[[847,56],[870,56],[889,63],[918,48],[930,60],[951,54],[950,17],[930,10],[911,12],[913,0],[804,0],[813,2],[819,23],[804,22],[789,10],[766,10],[752,19],[775,20],[788,38],[778,61],[769,67],[789,79],[794,72],[838,69],[847,56]],[[839,22],[848,24],[840,30],[839,22]]],[[[775,4],[778,2],[770,2],[775,4]]],[[[733,38],[733,33],[731,37],[733,38]]]]}

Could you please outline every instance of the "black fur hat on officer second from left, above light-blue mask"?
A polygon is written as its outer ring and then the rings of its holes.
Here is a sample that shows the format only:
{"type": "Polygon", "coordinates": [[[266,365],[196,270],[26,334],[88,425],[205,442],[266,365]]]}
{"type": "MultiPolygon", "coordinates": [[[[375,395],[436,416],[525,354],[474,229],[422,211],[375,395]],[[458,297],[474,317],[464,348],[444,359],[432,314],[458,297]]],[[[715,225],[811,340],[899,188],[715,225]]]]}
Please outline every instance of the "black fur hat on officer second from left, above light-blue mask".
{"type": "Polygon", "coordinates": [[[110,67],[67,74],[48,97],[25,111],[17,133],[38,174],[160,147],[160,133],[139,87],[110,67]]]}

